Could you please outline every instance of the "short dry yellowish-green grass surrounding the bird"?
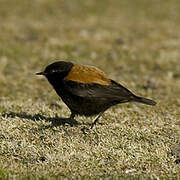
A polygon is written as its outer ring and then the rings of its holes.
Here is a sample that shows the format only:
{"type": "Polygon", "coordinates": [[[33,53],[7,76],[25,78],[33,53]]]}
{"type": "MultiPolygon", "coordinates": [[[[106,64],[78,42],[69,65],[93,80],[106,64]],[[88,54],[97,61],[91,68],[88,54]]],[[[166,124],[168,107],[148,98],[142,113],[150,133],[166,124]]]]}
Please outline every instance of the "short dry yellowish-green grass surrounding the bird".
{"type": "Polygon", "coordinates": [[[179,11],[177,0],[2,0],[0,179],[179,178],[179,11]],[[93,118],[57,126],[70,112],[35,73],[59,59],[157,105],[117,105],[91,131],[93,118]]]}

